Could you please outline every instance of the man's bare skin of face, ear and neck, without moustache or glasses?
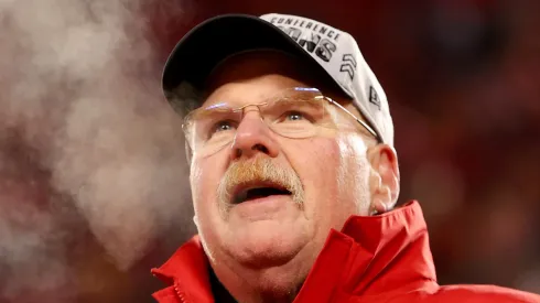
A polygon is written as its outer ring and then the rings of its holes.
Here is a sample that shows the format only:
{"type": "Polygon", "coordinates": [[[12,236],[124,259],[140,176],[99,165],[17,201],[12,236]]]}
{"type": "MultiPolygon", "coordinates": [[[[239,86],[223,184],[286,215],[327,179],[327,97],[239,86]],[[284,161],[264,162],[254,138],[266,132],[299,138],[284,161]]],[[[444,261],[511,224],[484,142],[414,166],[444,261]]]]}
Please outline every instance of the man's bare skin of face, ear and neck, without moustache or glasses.
{"type": "MultiPolygon", "coordinates": [[[[315,73],[271,51],[236,55],[222,63],[207,83],[204,106],[223,100],[257,104],[290,87],[317,87],[357,117],[358,110],[315,73]]],[[[350,215],[390,209],[399,194],[395,150],[377,144],[356,121],[310,139],[273,133],[250,110],[235,141],[207,158],[191,161],[195,224],[219,281],[238,302],[292,302],[331,228],[350,215]],[[238,152],[240,151],[240,152],[238,152]],[[305,192],[303,207],[285,198],[236,205],[219,212],[217,186],[234,162],[267,158],[296,174],[305,192]]]]}

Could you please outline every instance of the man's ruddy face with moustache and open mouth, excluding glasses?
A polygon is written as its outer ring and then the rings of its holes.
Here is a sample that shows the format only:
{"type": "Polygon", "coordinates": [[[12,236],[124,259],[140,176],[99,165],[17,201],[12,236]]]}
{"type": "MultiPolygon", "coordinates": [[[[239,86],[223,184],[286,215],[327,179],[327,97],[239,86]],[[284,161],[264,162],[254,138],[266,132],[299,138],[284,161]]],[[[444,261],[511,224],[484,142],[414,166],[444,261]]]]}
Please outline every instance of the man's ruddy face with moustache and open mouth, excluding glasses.
{"type": "MultiPolygon", "coordinates": [[[[283,54],[238,55],[213,73],[204,107],[260,104],[288,88],[314,87],[310,74],[283,54]]],[[[193,202],[210,260],[267,268],[301,258],[311,267],[331,228],[341,229],[353,214],[367,215],[366,143],[353,119],[350,126],[311,138],[285,138],[250,107],[235,126],[231,143],[212,154],[195,150],[193,202]]]]}

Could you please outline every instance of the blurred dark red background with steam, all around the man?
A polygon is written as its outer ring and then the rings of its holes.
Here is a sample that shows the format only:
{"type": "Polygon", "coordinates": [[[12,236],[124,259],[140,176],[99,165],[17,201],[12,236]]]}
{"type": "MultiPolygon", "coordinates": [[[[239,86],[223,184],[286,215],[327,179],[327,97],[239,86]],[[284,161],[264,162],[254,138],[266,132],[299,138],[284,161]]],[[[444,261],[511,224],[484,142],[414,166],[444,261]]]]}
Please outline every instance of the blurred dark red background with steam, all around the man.
{"type": "Polygon", "coordinates": [[[0,302],[153,302],[150,268],[195,234],[161,68],[228,12],[353,34],[440,283],[540,293],[539,1],[1,0],[0,302]]]}

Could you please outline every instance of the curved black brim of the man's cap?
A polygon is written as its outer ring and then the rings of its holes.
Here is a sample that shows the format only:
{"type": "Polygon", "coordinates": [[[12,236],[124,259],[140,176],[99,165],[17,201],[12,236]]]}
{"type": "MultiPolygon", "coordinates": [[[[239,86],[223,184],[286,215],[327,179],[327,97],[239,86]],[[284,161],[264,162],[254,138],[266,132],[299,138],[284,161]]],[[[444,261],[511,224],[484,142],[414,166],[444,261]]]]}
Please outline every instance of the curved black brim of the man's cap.
{"type": "Polygon", "coordinates": [[[198,24],[176,44],[163,71],[163,90],[172,90],[183,82],[203,88],[208,74],[224,58],[259,48],[278,50],[305,58],[339,87],[315,58],[280,29],[257,17],[226,14],[198,24]]]}

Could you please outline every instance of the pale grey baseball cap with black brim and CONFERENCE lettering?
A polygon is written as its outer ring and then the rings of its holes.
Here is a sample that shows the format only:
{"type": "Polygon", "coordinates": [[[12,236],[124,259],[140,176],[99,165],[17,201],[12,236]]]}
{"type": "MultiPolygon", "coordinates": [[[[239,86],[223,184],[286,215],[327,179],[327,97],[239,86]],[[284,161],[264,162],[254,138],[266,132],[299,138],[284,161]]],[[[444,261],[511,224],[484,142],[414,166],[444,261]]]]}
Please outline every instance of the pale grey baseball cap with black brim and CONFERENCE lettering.
{"type": "Polygon", "coordinates": [[[204,21],[191,30],[169,56],[162,77],[165,97],[185,83],[202,88],[224,58],[259,48],[305,57],[316,68],[322,67],[328,80],[353,99],[380,141],[393,145],[393,123],[386,94],[355,39],[303,17],[225,14],[204,21]]]}

